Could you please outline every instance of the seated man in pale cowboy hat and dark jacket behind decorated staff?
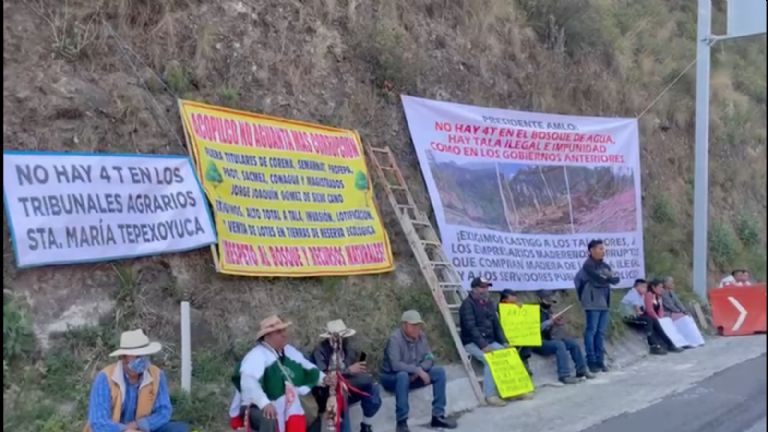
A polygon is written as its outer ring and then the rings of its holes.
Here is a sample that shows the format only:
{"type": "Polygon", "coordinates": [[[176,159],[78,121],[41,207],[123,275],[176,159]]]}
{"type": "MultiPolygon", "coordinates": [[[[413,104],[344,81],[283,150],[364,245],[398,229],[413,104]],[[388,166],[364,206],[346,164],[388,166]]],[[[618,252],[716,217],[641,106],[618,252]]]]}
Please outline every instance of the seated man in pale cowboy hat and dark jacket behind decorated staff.
{"type": "MultiPolygon", "coordinates": [[[[326,324],[326,331],[320,335],[323,339],[315,348],[312,353],[312,360],[317,367],[328,373],[328,370],[333,366],[331,359],[333,358],[334,349],[331,345],[331,340],[334,337],[341,338],[341,349],[339,354],[341,358],[340,367],[342,377],[347,380],[349,393],[347,394],[347,402],[342,411],[341,417],[341,431],[349,432],[351,425],[349,424],[349,406],[360,402],[360,408],[363,410],[363,421],[360,424],[360,432],[372,432],[371,422],[373,416],[379,411],[381,407],[381,397],[379,395],[379,386],[373,382],[373,376],[368,373],[368,365],[364,359],[361,359],[360,354],[352,349],[349,344],[349,338],[352,337],[356,331],[348,328],[343,320],[333,320],[326,324]]],[[[321,406],[320,411],[324,411],[323,407],[328,399],[328,391],[322,389],[316,392],[318,397],[318,404],[321,406]]]]}

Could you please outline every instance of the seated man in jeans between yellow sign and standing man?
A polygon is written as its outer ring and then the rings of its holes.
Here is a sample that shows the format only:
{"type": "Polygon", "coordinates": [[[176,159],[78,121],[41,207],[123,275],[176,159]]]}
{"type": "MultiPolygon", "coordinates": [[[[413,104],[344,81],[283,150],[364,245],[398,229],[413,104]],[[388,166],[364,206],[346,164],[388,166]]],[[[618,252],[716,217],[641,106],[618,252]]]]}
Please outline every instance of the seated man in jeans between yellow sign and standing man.
{"type": "Polygon", "coordinates": [[[537,293],[541,307],[541,346],[534,347],[533,352],[542,356],[554,354],[557,359],[557,378],[563,384],[576,384],[579,378],[592,379],[595,376],[587,369],[584,353],[579,344],[567,337],[563,332],[563,316],[552,318],[552,305],[557,303],[552,291],[541,290],[537,293]],[[573,359],[576,376],[571,375],[569,360],[573,359]]]}

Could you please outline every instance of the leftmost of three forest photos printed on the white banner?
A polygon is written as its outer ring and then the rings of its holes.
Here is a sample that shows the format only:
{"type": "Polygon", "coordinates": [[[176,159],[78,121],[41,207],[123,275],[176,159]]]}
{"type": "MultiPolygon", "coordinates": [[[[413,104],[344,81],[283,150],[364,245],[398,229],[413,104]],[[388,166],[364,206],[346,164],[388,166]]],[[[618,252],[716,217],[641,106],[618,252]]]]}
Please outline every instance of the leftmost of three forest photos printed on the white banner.
{"type": "Polygon", "coordinates": [[[449,223],[508,230],[495,164],[450,160],[432,151],[427,157],[449,223]]]}

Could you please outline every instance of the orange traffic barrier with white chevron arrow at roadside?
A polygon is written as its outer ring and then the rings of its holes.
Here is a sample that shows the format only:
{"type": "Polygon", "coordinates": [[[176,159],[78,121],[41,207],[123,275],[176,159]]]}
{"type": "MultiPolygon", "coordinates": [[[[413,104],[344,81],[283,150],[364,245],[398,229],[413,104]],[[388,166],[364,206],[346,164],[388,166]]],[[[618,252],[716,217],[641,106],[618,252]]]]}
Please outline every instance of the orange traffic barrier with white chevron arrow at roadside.
{"type": "Polygon", "coordinates": [[[712,322],[723,336],[766,332],[766,286],[726,286],[709,290],[712,322]]]}

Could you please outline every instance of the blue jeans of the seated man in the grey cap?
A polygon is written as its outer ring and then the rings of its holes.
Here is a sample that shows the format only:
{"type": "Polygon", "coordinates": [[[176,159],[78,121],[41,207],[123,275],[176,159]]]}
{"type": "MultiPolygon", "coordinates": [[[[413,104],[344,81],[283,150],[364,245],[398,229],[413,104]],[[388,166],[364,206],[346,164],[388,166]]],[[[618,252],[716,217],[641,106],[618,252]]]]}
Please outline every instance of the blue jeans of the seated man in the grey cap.
{"type": "MultiPolygon", "coordinates": [[[[445,415],[445,385],[446,377],[445,370],[440,366],[435,366],[428,372],[429,379],[432,384],[432,416],[442,417],[445,415]]],[[[416,376],[409,375],[408,372],[397,373],[381,373],[379,379],[381,380],[381,386],[388,392],[395,394],[395,416],[397,421],[404,421],[408,419],[408,392],[411,389],[417,389],[424,387],[424,381],[421,378],[416,377],[411,381],[411,377],[416,376]]]]}

